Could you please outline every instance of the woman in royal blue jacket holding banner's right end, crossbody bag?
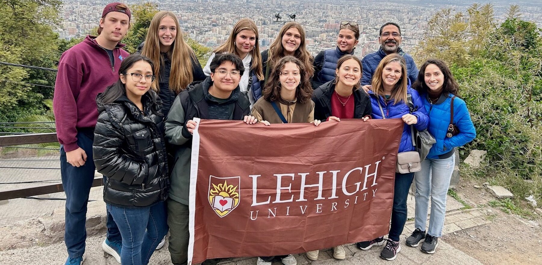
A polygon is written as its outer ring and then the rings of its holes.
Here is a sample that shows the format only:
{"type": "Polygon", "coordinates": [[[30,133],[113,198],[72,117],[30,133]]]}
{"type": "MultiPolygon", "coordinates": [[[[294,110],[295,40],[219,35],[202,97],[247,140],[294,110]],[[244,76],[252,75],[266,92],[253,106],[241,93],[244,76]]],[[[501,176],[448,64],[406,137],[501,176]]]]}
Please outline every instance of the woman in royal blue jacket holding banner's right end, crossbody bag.
{"type": "MultiPolygon", "coordinates": [[[[408,88],[407,83],[408,75],[403,56],[390,54],[378,64],[373,75],[371,91],[369,91],[373,119],[401,118],[405,122],[399,152],[416,150],[412,145],[411,125],[414,125],[417,130],[423,131],[429,123],[420,95],[415,90],[408,88]],[[412,104],[410,106],[412,113],[409,103],[412,104]]],[[[413,178],[414,173],[395,173],[391,228],[388,242],[380,252],[380,257],[385,260],[395,260],[397,253],[401,251],[399,236],[403,232],[406,222],[406,197],[413,178]]],[[[363,250],[370,249],[373,245],[383,244],[383,237],[356,243],[358,248],[363,250]]]]}

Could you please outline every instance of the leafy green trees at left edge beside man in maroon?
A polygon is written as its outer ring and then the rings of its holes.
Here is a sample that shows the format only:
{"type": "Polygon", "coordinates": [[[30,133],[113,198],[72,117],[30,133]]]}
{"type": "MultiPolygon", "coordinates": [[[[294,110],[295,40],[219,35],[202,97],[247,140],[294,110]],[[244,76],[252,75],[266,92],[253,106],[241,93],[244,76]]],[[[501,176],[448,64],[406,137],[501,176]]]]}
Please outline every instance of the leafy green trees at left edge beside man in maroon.
{"type": "MultiPolygon", "coordinates": [[[[0,61],[54,68],[57,62],[59,0],[0,0],[0,61]]],[[[44,111],[55,73],[0,65],[0,121],[44,111]],[[37,84],[43,86],[34,86],[37,84]]]]}

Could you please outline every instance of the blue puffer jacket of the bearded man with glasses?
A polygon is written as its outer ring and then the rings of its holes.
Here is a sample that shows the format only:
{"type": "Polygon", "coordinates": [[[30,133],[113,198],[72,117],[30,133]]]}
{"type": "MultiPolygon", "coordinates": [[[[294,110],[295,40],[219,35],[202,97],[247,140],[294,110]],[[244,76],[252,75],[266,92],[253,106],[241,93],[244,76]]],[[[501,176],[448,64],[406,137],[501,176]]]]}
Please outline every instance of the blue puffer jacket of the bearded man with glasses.
{"type": "MultiPolygon", "coordinates": [[[[416,63],[414,62],[414,59],[412,59],[412,56],[410,54],[405,53],[401,48],[397,49],[397,53],[404,57],[406,61],[406,73],[408,74],[408,81],[409,86],[410,84],[414,83],[416,81],[416,78],[418,77],[418,68],[416,67],[416,63]]],[[[382,50],[382,48],[378,49],[374,53],[367,54],[365,57],[363,57],[362,60],[362,66],[363,66],[363,75],[362,75],[362,86],[363,85],[371,85],[372,76],[375,74],[375,70],[378,67],[378,64],[384,57],[386,57],[386,53],[382,50]]]]}

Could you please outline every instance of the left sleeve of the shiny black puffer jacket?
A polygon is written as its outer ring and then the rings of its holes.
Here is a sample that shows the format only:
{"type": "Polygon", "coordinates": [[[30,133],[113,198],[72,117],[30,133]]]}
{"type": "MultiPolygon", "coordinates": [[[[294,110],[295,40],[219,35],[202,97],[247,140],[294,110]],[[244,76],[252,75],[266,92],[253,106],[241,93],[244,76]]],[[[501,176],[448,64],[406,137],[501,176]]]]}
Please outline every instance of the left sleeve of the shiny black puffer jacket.
{"type": "Polygon", "coordinates": [[[149,167],[143,159],[135,161],[120,152],[121,146],[126,145],[125,140],[120,128],[109,121],[107,112],[101,112],[94,129],[94,164],[96,170],[108,178],[128,185],[140,185],[149,174],[149,167]]]}

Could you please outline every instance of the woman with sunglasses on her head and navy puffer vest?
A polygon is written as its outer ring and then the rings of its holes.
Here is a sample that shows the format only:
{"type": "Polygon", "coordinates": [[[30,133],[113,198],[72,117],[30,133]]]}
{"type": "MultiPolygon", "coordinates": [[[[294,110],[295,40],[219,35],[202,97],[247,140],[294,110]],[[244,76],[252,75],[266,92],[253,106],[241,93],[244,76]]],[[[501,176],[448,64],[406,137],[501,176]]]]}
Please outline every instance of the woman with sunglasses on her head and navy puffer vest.
{"type": "Polygon", "coordinates": [[[353,55],[358,44],[359,25],[357,22],[342,21],[340,23],[339,35],[337,36],[337,47],[335,49],[322,50],[314,57],[314,76],[312,87],[314,89],[323,83],[335,79],[337,61],[344,55],[353,55]]]}

